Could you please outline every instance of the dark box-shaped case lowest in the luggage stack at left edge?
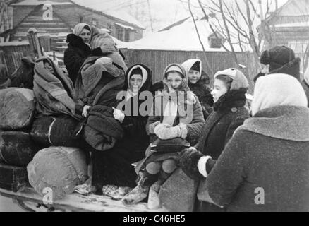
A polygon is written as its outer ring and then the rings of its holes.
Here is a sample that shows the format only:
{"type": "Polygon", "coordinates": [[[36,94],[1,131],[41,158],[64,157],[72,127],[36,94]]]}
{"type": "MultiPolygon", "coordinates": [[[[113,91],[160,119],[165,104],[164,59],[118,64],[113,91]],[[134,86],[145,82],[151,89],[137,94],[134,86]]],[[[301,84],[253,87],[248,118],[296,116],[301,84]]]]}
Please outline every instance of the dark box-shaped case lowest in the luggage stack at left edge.
{"type": "Polygon", "coordinates": [[[28,185],[26,167],[17,167],[0,162],[0,188],[16,192],[28,185]]]}

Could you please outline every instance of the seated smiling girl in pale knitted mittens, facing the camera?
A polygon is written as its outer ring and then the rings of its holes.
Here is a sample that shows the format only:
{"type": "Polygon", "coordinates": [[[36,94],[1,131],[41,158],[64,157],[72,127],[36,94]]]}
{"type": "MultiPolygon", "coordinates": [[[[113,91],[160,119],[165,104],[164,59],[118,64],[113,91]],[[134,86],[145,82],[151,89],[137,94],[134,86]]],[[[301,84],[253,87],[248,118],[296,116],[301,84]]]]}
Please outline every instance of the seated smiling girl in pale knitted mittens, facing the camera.
{"type": "MultiPolygon", "coordinates": [[[[164,90],[154,97],[152,116],[146,125],[151,140],[183,138],[195,145],[204,123],[202,107],[198,98],[188,88],[188,76],[183,66],[170,64],[164,71],[164,90]]],[[[174,172],[178,153],[152,155],[150,147],[146,157],[138,163],[135,171],[140,176],[138,185],[123,197],[126,205],[138,203],[147,197],[150,186],[155,190],[174,172]]]]}

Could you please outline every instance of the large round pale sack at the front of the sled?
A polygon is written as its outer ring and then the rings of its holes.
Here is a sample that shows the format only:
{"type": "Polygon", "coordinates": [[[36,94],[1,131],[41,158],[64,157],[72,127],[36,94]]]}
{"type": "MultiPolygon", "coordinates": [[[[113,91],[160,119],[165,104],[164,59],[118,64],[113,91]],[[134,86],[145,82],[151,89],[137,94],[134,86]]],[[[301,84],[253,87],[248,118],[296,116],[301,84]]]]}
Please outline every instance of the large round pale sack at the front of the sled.
{"type": "Polygon", "coordinates": [[[87,179],[86,154],[78,148],[50,147],[40,150],[28,167],[29,183],[37,193],[52,193],[50,200],[71,194],[87,179]]]}

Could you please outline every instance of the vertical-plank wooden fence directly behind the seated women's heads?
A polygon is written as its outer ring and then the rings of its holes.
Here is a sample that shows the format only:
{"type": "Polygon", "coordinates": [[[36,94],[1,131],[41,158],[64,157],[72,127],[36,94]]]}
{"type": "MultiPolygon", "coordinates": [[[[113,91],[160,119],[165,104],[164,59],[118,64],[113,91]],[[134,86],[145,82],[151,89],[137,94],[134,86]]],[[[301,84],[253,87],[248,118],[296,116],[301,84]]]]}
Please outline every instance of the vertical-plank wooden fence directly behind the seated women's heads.
{"type": "MultiPolygon", "coordinates": [[[[237,67],[232,56],[228,52],[206,52],[207,59],[212,70],[207,67],[203,52],[188,52],[188,51],[166,51],[166,50],[136,50],[136,49],[121,49],[121,52],[126,57],[126,64],[145,64],[150,67],[153,73],[153,80],[159,81],[162,79],[164,69],[171,63],[182,64],[187,59],[200,59],[202,61],[202,69],[210,75],[229,67],[237,67]]],[[[253,62],[253,55],[249,53],[237,53],[239,64],[246,66],[243,73],[248,78],[250,83],[250,93],[253,91],[253,78],[258,73],[253,62]]],[[[238,68],[238,67],[237,67],[238,68]]]]}

